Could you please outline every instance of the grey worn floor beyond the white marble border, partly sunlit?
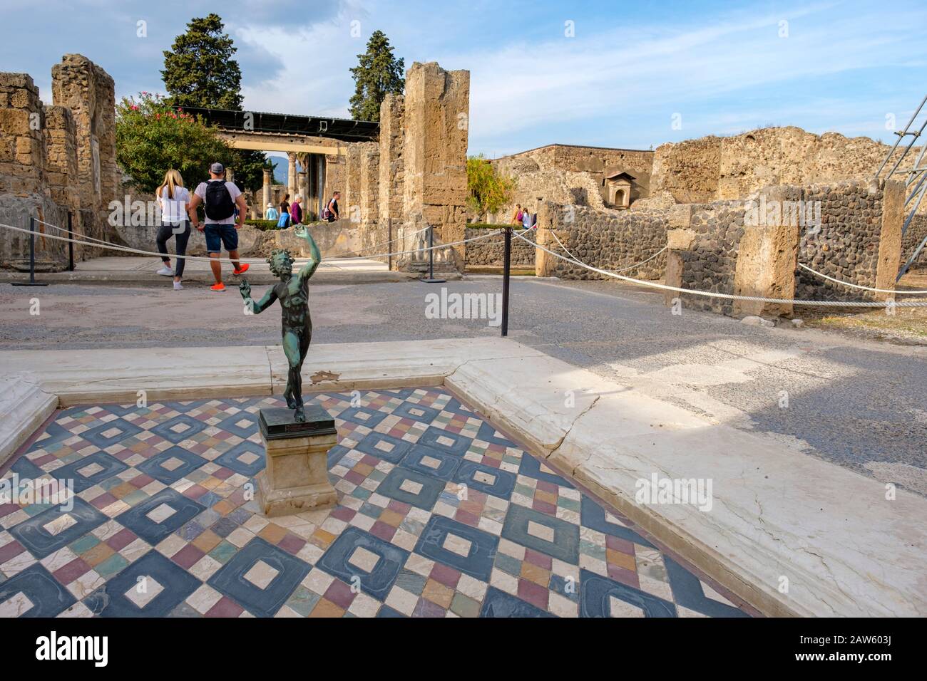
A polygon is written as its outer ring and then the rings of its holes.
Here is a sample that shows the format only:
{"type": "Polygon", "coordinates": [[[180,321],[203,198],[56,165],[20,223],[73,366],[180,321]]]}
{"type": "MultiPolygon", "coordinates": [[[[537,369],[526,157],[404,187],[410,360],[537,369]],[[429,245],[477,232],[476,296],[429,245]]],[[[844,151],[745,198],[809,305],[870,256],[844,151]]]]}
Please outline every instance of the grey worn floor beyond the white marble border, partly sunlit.
{"type": "MultiPolygon", "coordinates": [[[[442,287],[449,293],[502,290],[495,276],[312,286],[313,341],[500,333],[487,320],[428,319],[425,296],[442,287]]],[[[245,315],[234,289],[0,285],[0,349],[276,344],[279,324],[275,308],[245,315]],[[30,314],[33,298],[38,315],[30,314]]],[[[927,495],[924,347],[747,326],[686,309],[673,315],[653,291],[533,278],[513,280],[509,336],[716,422],[927,495]]]]}

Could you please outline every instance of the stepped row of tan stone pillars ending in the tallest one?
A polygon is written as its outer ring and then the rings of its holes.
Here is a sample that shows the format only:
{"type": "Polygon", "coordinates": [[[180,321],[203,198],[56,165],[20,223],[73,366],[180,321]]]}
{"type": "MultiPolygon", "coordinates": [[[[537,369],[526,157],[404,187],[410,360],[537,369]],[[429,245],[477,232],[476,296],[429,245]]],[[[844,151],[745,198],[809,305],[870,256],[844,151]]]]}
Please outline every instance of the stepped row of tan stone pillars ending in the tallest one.
{"type": "MultiPolygon", "coordinates": [[[[405,95],[380,106],[378,142],[351,143],[341,163],[329,163],[326,193],[341,190],[341,216],[361,230],[362,255],[464,239],[469,71],[415,63],[405,95]],[[392,241],[395,240],[395,241],[392,241]],[[392,243],[387,243],[392,241],[392,243]]],[[[426,254],[381,256],[393,269],[421,270],[426,254]]],[[[439,267],[464,267],[464,246],[435,252],[439,267]]]]}

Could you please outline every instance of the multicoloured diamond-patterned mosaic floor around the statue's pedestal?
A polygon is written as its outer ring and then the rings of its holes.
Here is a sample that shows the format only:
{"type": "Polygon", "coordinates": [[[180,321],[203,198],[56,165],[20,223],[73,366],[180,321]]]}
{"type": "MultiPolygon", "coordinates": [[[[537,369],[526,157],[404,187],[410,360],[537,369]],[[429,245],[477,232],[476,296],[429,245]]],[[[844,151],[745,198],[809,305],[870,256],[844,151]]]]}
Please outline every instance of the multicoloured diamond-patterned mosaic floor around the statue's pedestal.
{"type": "Polygon", "coordinates": [[[71,479],[73,508],[0,505],[0,616],[743,615],[441,390],[312,401],[340,503],[271,522],[280,400],[59,412],[4,477],[71,479]]]}

